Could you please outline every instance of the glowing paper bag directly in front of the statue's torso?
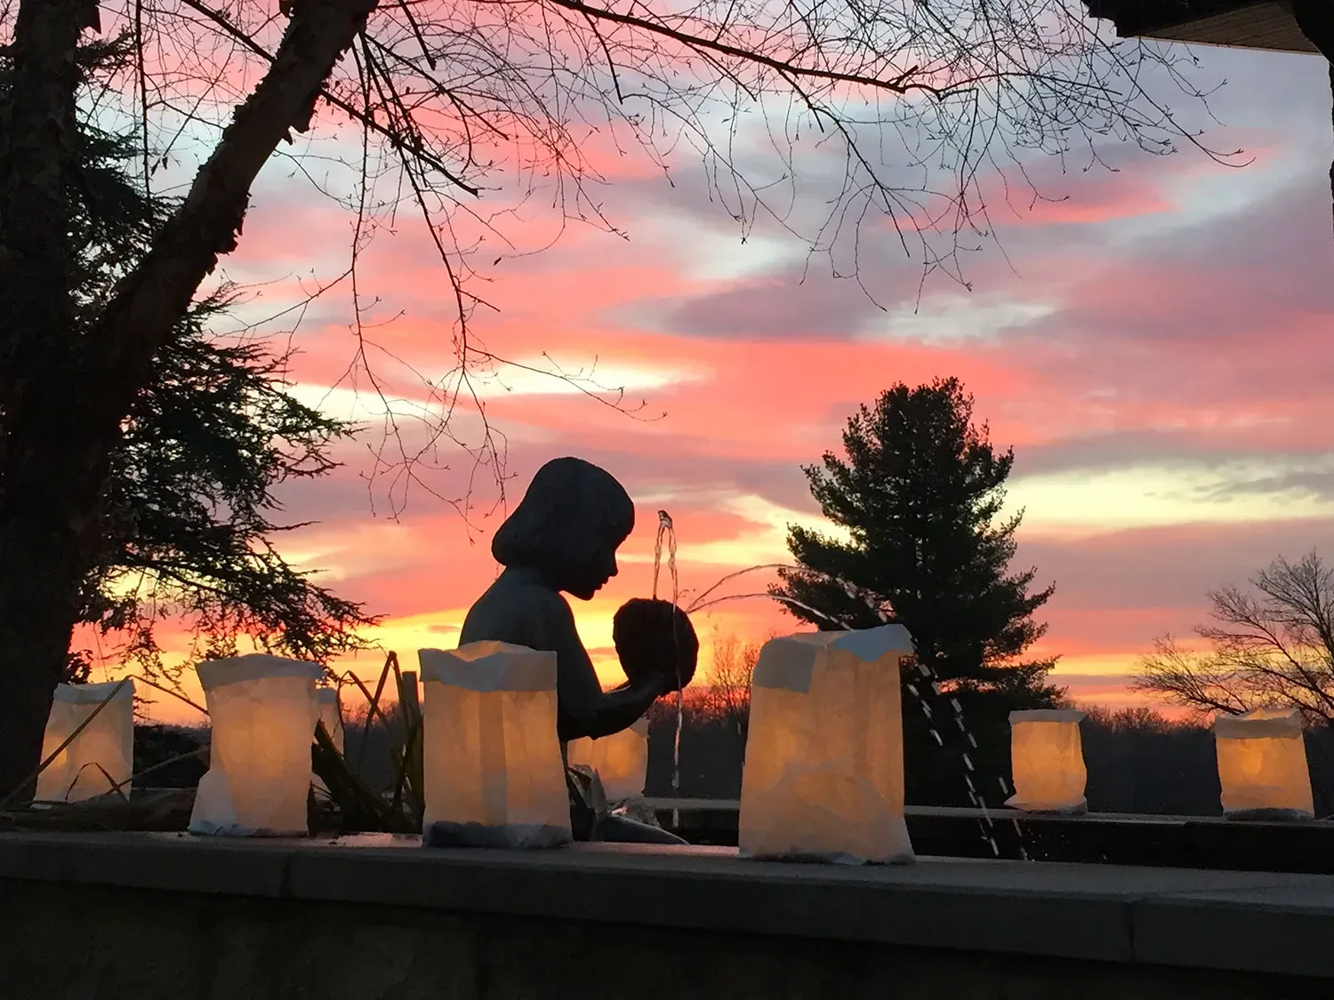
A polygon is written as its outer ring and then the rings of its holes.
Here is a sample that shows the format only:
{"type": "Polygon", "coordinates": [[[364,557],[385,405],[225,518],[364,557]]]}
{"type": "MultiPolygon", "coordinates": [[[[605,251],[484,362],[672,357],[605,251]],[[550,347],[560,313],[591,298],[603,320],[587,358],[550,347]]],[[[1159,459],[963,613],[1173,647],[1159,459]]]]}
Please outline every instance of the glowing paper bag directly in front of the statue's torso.
{"type": "Polygon", "coordinates": [[[556,655],[508,643],[419,649],[427,844],[571,841],[556,655]]]}

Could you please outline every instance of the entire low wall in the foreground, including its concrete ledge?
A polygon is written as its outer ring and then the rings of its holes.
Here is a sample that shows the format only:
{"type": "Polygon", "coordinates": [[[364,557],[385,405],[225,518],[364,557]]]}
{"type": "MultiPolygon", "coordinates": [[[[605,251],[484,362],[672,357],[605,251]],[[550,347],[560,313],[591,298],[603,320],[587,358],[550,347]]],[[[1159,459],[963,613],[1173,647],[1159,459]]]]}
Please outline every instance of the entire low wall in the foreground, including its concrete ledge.
{"type": "Polygon", "coordinates": [[[4,833],[0,915],[3,1000],[1334,995],[1334,877],[1290,873],[4,833]]]}

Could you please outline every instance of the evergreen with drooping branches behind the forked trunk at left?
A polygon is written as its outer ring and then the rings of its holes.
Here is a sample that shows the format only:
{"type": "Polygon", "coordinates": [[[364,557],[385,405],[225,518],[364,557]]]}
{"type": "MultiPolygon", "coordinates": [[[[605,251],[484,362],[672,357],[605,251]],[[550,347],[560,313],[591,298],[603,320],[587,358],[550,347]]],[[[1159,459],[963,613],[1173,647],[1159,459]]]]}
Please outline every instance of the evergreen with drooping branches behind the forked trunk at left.
{"type": "MultiPolygon", "coordinates": [[[[115,43],[87,47],[89,76],[121,64],[115,43]]],[[[175,200],[144,193],[129,175],[132,140],[80,121],[76,220],[79,319],[91,324],[131,271],[175,200]]],[[[211,332],[231,304],[223,289],[195,303],[153,359],[111,455],[96,545],[87,553],[80,621],[95,625],[148,673],[165,675],[156,627],[187,624],[209,653],[249,636],[264,648],[325,660],[360,645],[374,621],[291,567],[275,549],[283,525],[273,489],[335,468],[331,447],[354,432],[291,395],[287,355],[263,341],[211,332]]],[[[87,680],[92,653],[72,649],[67,680],[87,680]]]]}

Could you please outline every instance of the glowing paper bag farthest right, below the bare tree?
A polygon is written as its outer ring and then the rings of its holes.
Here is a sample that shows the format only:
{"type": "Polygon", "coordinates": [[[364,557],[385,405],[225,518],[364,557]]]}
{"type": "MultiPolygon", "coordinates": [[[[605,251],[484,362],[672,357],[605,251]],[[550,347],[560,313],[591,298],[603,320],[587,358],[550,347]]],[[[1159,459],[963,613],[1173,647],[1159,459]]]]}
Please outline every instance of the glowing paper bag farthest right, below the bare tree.
{"type": "Polygon", "coordinates": [[[1311,819],[1311,776],[1302,713],[1259,708],[1214,719],[1223,815],[1230,819],[1311,819]]]}

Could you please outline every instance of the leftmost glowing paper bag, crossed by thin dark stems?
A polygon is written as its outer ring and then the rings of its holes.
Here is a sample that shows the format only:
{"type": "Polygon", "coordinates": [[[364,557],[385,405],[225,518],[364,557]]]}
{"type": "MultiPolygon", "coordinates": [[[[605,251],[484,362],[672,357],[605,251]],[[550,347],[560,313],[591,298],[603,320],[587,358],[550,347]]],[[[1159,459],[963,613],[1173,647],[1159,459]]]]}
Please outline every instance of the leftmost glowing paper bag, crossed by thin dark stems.
{"type": "Polygon", "coordinates": [[[39,801],[77,803],[105,795],[115,787],[129,795],[135,763],[135,683],[57,684],[47,732],[41,737],[45,760],[85,720],[92,721],[37,775],[39,801]],[[119,691],[117,691],[119,687],[119,691]],[[96,716],[108,695],[115,695],[96,716]]]}

